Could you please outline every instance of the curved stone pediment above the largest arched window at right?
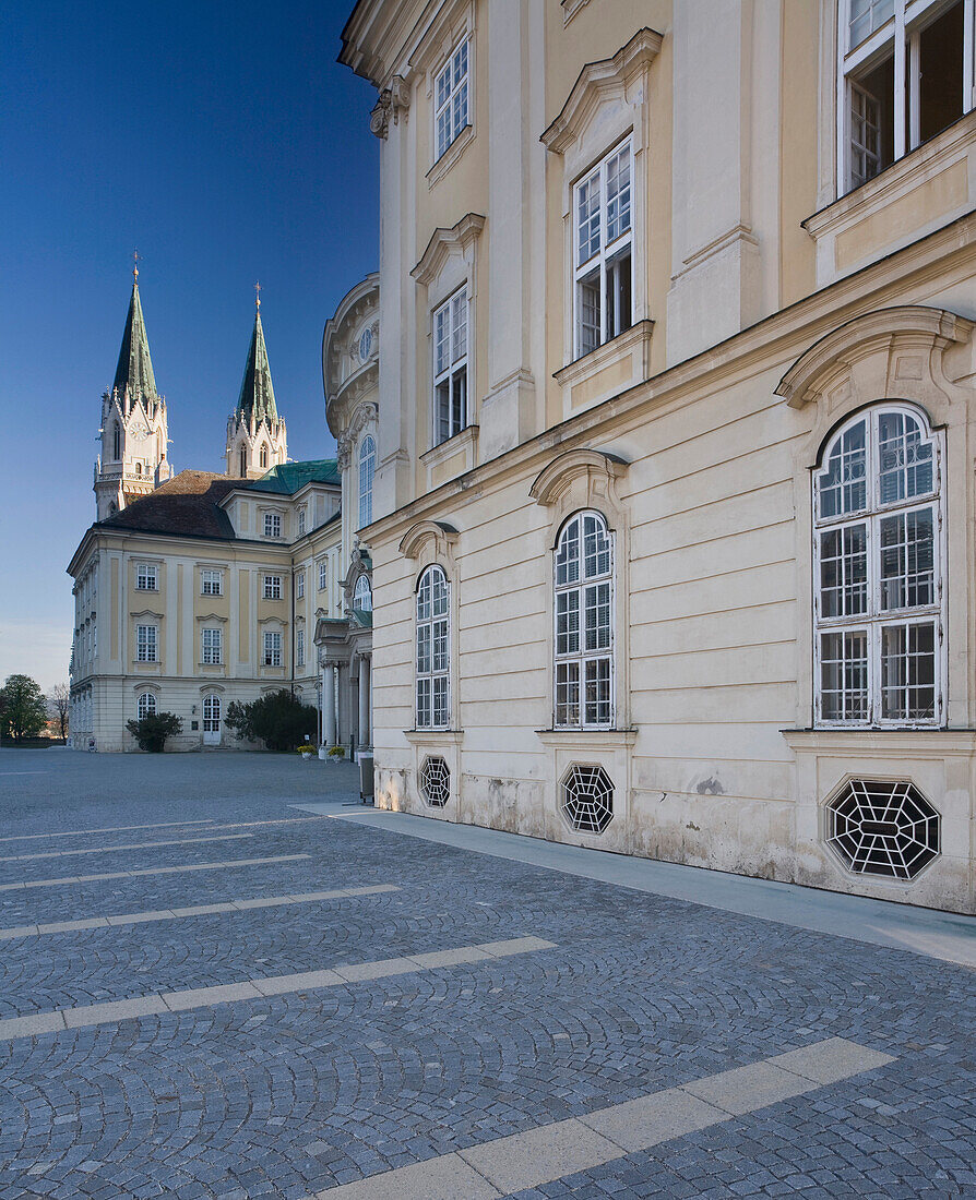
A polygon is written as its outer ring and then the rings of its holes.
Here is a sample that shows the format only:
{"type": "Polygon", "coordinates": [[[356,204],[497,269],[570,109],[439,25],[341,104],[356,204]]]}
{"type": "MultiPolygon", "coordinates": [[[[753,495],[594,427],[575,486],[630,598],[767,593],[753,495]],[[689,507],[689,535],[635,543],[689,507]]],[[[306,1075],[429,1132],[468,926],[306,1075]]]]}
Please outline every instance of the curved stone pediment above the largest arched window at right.
{"type": "Polygon", "coordinates": [[[968,342],[972,329],[965,317],[924,305],[867,312],[815,342],[783,376],[776,395],[791,408],[825,400],[836,407],[838,397],[856,391],[858,365],[880,355],[885,361],[872,372],[873,392],[864,401],[879,395],[924,400],[932,389],[941,390],[942,353],[968,342]]]}

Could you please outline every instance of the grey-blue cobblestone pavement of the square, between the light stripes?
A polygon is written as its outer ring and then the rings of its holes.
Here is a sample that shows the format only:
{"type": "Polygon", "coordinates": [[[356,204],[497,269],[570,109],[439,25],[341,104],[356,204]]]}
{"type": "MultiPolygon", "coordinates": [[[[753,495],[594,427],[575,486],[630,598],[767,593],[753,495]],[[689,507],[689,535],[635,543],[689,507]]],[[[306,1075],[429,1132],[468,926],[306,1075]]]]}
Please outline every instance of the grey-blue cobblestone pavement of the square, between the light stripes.
{"type": "Polygon", "coordinates": [[[0,1200],[387,1195],[382,1172],[831,1037],[896,1061],[511,1194],[976,1194],[972,972],[289,808],[354,786],[286,756],[0,751],[0,888],[116,876],[0,890],[0,929],[399,889],[8,937],[0,1019],[553,943],[0,1038],[0,1200]]]}

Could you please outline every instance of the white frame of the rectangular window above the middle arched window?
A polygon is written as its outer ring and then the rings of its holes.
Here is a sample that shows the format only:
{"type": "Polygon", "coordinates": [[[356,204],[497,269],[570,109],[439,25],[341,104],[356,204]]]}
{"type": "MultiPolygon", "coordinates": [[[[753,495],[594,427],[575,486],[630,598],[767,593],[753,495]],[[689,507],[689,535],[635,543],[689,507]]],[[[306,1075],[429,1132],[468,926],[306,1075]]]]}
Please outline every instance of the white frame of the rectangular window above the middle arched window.
{"type": "MultiPolygon", "coordinates": [[[[617,216],[617,222],[621,217],[617,216]]],[[[571,221],[573,221],[573,356],[581,359],[592,353],[606,342],[625,332],[634,324],[634,139],[631,136],[618,142],[612,150],[593,167],[591,167],[573,185],[571,196],[571,221]],[[625,155],[627,166],[627,226],[615,232],[613,217],[611,216],[612,200],[622,194],[621,187],[615,194],[609,196],[612,185],[610,174],[611,164],[616,164],[621,155],[625,155]],[[583,222],[580,220],[581,204],[583,198],[595,197],[595,206],[588,210],[587,223],[589,234],[586,240],[586,258],[582,258],[581,229],[583,222]],[[593,221],[595,218],[595,226],[593,221]],[[629,311],[625,313],[616,304],[618,288],[616,278],[623,270],[622,259],[627,256],[629,264],[629,311]],[[583,337],[583,288],[592,276],[597,275],[597,304],[598,323],[595,330],[595,342],[583,337]],[[607,296],[611,282],[613,283],[615,307],[610,312],[607,296]]]]}

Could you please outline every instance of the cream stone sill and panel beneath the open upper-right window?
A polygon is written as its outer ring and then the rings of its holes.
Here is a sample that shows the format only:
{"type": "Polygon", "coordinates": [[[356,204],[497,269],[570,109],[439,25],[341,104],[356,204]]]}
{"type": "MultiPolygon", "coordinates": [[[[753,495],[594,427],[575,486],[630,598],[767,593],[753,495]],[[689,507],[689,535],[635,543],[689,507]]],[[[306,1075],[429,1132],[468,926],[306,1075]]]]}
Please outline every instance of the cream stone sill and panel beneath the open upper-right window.
{"type": "Polygon", "coordinates": [[[976,109],[802,221],[816,242],[816,286],[860,270],[972,208],[976,109]]]}

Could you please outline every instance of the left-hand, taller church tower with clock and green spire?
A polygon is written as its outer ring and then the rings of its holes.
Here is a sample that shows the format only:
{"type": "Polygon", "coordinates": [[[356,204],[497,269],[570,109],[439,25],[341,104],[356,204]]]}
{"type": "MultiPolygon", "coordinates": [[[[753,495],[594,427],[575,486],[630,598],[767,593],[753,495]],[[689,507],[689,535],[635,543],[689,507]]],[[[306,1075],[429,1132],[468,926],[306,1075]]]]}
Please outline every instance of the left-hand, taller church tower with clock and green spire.
{"type": "Polygon", "coordinates": [[[114,516],[169,479],[166,401],[156,391],[139,300],[139,268],[112,390],[102,395],[102,452],[95,463],[96,520],[114,516]]]}

